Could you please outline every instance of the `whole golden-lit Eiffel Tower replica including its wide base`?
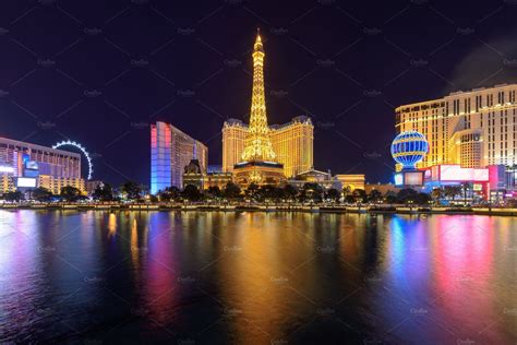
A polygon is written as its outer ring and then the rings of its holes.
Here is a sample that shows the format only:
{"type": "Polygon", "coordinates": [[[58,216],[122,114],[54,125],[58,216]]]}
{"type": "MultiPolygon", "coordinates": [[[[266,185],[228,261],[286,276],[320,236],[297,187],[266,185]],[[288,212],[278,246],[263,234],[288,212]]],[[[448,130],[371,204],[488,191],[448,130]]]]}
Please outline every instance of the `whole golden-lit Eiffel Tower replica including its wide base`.
{"type": "Polygon", "coordinates": [[[238,185],[278,186],[286,180],[284,165],[276,160],[267,126],[266,99],[264,92],[264,47],[257,32],[253,47],[253,92],[251,98],[250,126],[244,140],[242,162],[233,167],[238,185]]]}

